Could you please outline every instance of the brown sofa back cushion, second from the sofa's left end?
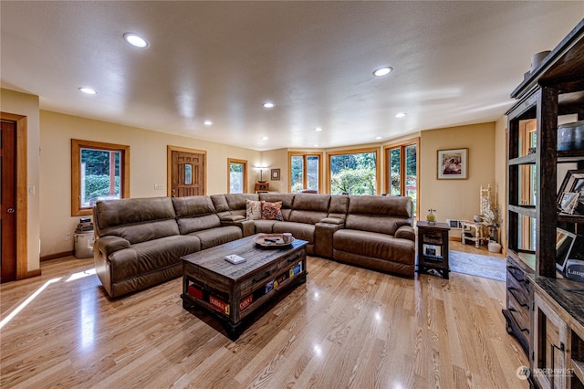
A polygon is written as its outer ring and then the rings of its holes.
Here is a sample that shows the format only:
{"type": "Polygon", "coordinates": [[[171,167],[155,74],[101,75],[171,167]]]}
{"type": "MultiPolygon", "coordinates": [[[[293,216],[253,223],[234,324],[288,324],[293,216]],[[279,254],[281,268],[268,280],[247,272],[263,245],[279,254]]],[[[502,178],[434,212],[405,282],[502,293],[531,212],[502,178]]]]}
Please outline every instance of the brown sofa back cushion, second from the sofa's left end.
{"type": "Polygon", "coordinates": [[[182,235],[221,226],[213,201],[207,195],[172,197],[172,205],[182,235]]]}

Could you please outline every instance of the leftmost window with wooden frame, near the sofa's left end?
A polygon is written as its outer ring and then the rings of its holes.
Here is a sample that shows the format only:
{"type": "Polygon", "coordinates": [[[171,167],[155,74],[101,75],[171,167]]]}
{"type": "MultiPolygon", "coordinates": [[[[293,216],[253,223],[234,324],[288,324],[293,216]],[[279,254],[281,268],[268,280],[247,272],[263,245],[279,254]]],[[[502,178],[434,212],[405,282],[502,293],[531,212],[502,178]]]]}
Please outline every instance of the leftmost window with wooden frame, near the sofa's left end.
{"type": "Polygon", "coordinates": [[[71,216],[101,199],[130,197],[130,146],[71,140],[71,216]]]}

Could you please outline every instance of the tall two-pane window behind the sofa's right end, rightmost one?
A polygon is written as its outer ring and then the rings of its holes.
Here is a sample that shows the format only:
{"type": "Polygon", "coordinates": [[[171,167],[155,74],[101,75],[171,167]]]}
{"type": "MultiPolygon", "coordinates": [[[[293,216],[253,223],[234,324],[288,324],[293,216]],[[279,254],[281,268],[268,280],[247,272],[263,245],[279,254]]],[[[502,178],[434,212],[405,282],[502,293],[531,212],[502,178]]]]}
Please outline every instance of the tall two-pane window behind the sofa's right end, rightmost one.
{"type": "Polygon", "coordinates": [[[385,146],[385,192],[389,195],[412,197],[413,216],[418,204],[418,143],[409,142],[385,146]]]}

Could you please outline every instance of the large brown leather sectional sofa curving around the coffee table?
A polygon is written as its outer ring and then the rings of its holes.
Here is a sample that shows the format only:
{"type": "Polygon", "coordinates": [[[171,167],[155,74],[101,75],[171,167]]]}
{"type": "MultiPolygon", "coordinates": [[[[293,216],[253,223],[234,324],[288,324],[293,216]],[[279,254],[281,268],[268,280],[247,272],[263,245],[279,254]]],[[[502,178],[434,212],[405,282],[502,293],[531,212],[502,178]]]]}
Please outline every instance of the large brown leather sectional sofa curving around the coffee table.
{"type": "Polygon", "coordinates": [[[182,275],[181,257],[256,233],[290,232],[307,252],[413,276],[409,197],[313,194],[201,195],[99,201],[95,267],[111,298],[182,275]],[[246,216],[246,200],[281,201],[282,220],[246,216]]]}

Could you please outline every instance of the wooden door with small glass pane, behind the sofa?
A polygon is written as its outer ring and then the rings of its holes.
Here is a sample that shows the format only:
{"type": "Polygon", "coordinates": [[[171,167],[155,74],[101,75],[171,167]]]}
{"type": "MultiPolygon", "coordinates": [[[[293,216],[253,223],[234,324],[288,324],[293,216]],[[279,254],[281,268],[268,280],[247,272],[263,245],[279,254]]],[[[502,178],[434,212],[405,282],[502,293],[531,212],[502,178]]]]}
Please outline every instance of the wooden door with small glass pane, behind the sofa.
{"type": "Polygon", "coordinates": [[[171,171],[172,197],[205,194],[204,152],[172,150],[171,171]]]}

